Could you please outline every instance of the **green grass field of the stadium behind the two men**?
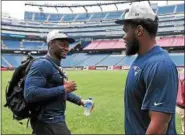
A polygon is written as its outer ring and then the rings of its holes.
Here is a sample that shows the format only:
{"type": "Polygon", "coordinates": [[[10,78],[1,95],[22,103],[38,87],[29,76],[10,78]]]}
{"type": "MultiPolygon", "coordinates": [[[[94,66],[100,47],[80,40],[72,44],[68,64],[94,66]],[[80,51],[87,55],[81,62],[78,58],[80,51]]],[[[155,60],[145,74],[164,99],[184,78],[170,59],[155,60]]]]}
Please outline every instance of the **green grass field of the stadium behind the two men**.
{"type": "MultiPolygon", "coordinates": [[[[5,104],[5,87],[12,72],[2,72],[2,106],[5,104]]],[[[93,98],[95,108],[86,117],[83,108],[67,103],[66,120],[72,134],[124,134],[123,89],[127,72],[124,71],[69,71],[69,79],[75,80],[82,98],[93,98]]],[[[180,119],[176,118],[180,133],[180,119]]],[[[31,134],[30,127],[12,119],[12,113],[2,107],[2,134],[31,134]]]]}

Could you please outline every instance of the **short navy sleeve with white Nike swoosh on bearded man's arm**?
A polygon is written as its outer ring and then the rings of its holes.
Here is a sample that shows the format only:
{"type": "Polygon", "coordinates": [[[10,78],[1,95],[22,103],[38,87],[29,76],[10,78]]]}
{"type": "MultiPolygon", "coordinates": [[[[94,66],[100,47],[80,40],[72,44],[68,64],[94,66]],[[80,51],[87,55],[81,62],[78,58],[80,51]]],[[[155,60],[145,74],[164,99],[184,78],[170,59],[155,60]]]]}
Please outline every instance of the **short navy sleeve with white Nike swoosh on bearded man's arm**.
{"type": "Polygon", "coordinates": [[[148,65],[144,72],[146,87],[142,110],[175,113],[178,91],[178,73],[175,65],[157,62],[148,65]]]}

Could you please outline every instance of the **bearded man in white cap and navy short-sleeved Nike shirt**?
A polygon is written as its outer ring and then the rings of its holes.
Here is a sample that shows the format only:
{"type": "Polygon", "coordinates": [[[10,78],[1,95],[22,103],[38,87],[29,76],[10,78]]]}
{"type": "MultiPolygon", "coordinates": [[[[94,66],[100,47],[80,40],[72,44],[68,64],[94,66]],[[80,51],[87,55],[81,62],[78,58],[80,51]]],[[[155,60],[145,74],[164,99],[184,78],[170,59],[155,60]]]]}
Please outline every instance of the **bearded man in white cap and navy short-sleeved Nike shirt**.
{"type": "Polygon", "coordinates": [[[123,20],[126,55],[138,54],[126,80],[125,134],[176,134],[178,74],[156,45],[158,17],[148,3],[133,3],[123,20]]]}

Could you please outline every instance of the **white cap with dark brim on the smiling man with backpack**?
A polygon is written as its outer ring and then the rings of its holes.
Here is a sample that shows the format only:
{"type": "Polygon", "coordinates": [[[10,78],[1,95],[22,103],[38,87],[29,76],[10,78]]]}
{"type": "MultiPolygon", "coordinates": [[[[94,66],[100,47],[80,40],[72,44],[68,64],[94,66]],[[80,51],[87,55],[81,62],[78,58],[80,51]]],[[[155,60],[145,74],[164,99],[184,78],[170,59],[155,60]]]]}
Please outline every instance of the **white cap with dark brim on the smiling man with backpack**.
{"type": "Polygon", "coordinates": [[[65,33],[60,30],[52,30],[47,35],[47,43],[54,39],[66,39],[69,43],[74,43],[75,40],[73,38],[69,38],[65,33]]]}

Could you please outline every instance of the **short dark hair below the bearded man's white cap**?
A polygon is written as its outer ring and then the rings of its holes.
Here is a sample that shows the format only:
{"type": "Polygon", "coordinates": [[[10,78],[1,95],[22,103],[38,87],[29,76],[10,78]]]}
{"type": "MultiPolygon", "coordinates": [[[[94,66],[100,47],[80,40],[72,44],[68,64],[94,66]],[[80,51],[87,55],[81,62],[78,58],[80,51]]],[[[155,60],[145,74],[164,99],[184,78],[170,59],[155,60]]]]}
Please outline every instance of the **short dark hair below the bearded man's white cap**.
{"type": "Polygon", "coordinates": [[[158,17],[155,17],[155,20],[151,19],[130,19],[126,20],[124,24],[131,25],[132,27],[137,27],[141,25],[144,29],[147,30],[151,37],[156,37],[158,31],[158,17]]]}

